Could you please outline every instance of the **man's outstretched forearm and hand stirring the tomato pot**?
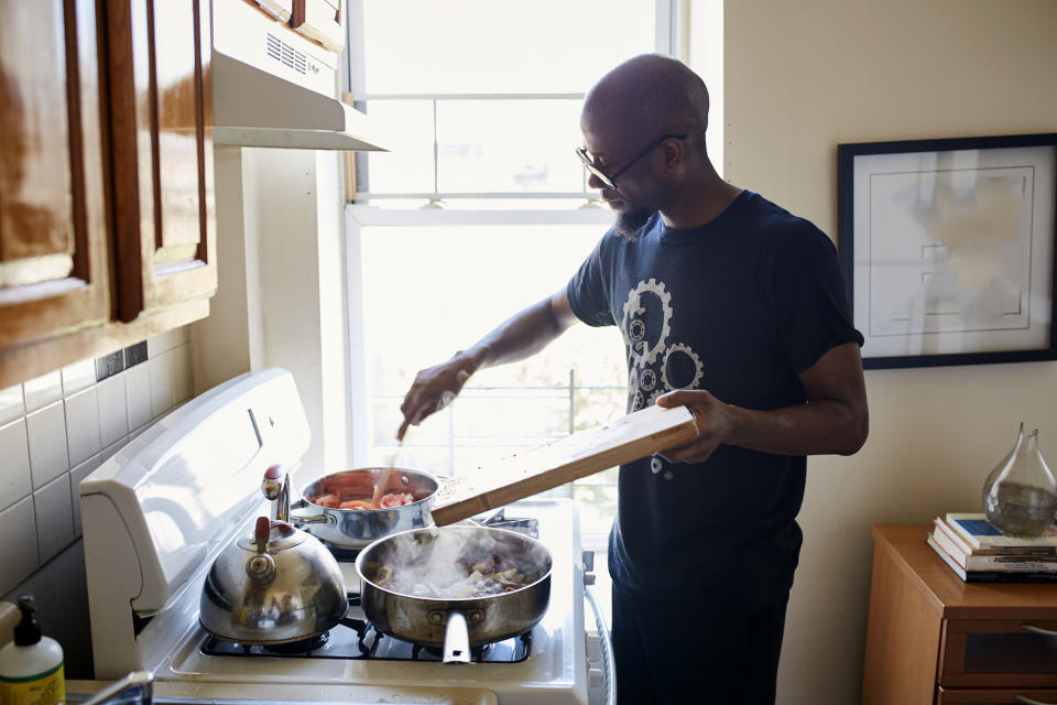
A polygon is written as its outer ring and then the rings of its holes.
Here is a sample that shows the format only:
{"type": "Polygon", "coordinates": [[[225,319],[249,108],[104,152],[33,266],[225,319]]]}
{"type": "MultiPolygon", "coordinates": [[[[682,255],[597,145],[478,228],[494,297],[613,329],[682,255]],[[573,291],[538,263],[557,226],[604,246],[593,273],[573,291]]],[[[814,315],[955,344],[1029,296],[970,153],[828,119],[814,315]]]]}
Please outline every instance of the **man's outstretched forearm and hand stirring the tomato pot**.
{"type": "Polygon", "coordinates": [[[563,289],[517,312],[472,347],[456,352],[447,362],[422,370],[400,406],[404,421],[396,437],[403,440],[407,426],[417,426],[423,419],[451,403],[477,370],[535,355],[576,321],[563,289]]]}

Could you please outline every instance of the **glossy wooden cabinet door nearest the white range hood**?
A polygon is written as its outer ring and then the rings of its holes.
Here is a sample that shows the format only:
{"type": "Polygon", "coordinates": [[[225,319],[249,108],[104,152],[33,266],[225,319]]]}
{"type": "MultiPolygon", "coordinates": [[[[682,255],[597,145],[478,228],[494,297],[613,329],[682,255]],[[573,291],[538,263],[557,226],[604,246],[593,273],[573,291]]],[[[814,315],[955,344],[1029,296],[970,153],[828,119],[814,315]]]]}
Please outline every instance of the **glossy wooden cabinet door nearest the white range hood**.
{"type": "Polygon", "coordinates": [[[118,317],[217,286],[209,0],[106,2],[118,317]]]}

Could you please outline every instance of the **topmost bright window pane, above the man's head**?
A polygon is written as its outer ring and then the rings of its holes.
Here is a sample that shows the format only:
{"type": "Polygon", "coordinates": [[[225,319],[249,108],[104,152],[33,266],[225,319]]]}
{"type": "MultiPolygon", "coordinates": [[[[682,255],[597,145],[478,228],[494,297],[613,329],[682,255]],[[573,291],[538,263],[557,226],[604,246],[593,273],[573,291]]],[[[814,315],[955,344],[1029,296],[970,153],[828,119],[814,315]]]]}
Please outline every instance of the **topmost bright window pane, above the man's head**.
{"type": "Polygon", "coordinates": [[[582,93],[654,51],[650,0],[363,0],[367,90],[582,93]]]}

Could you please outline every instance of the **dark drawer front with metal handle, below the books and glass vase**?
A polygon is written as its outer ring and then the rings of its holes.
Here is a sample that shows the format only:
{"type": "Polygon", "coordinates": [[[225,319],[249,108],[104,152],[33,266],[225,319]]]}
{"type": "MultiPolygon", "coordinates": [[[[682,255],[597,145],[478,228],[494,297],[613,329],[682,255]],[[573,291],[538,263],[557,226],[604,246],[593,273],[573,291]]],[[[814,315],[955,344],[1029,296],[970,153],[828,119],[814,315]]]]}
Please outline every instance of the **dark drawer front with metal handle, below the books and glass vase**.
{"type": "Polygon", "coordinates": [[[1057,620],[951,620],[939,684],[1057,688],[1057,620]]]}

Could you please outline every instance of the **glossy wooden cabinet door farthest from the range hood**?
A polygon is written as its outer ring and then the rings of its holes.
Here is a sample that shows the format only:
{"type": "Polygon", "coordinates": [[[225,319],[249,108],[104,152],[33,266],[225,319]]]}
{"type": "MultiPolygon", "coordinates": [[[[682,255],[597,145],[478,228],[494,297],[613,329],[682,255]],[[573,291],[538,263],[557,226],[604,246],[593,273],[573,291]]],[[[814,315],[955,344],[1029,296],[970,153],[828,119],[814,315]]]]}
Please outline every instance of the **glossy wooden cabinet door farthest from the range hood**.
{"type": "Polygon", "coordinates": [[[0,349],[109,317],[90,0],[2,0],[0,349]]]}

